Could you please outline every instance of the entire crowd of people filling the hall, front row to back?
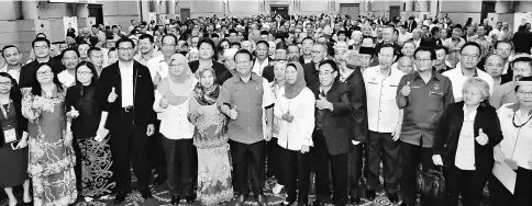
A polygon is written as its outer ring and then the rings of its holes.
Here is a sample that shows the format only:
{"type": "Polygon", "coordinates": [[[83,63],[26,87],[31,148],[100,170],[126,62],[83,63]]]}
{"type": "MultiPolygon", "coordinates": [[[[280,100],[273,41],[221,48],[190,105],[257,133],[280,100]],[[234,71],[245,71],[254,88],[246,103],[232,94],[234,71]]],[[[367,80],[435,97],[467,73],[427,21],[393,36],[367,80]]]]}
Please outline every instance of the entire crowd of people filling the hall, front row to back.
{"type": "Polygon", "coordinates": [[[266,206],[275,178],[281,206],[380,188],[411,206],[421,165],[446,186],[421,205],[478,206],[486,185],[489,205],[532,205],[530,30],[321,14],[38,34],[26,64],[1,50],[0,187],[9,206],[19,185],[25,205],[120,204],[131,167],[143,198],[167,182],[173,205],[266,206]]]}

